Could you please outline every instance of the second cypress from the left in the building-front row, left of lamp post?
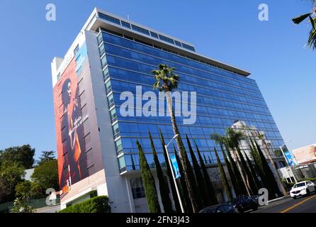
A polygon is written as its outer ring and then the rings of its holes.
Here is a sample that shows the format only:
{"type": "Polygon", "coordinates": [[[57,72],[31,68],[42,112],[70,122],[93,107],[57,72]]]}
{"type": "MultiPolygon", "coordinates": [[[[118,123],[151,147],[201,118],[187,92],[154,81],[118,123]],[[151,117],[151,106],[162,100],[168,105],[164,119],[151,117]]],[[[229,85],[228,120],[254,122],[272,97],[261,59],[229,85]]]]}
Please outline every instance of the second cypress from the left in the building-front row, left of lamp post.
{"type": "Polygon", "coordinates": [[[152,146],[152,154],[154,155],[154,165],[157,171],[157,178],[159,182],[160,196],[162,198],[162,206],[164,206],[164,213],[171,213],[173,212],[173,210],[172,210],[171,199],[168,194],[169,187],[164,178],[164,172],[162,171],[162,166],[160,165],[156,148],[154,148],[154,141],[152,140],[152,134],[150,132],[149,132],[149,140],[150,140],[150,145],[152,146]]]}

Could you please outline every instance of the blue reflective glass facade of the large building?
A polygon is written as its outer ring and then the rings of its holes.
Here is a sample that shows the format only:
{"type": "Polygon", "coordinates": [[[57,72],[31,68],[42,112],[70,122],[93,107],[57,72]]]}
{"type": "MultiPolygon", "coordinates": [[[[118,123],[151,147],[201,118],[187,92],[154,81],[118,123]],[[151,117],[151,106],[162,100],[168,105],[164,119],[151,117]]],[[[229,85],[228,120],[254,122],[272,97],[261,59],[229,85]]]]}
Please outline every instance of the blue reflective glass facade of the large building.
{"type": "MultiPolygon", "coordinates": [[[[184,125],[183,117],[176,117],[182,138],[187,134],[196,140],[207,164],[215,164],[214,148],[218,148],[211,133],[225,133],[236,121],[244,121],[247,126],[255,126],[264,131],[273,147],[283,144],[283,139],[273,121],[264,98],[253,79],[212,65],[182,57],[174,52],[162,50],[157,46],[145,45],[118,34],[100,32],[98,35],[101,64],[106,84],[108,104],[113,123],[113,135],[118,154],[120,171],[139,170],[136,140],[139,140],[154,167],[148,131],[152,133],[159,160],[166,165],[159,140],[159,128],[166,142],[174,137],[169,116],[121,116],[120,100],[122,92],[136,94],[136,86],[142,86],[142,92],[155,92],[152,89],[154,77],[152,70],[159,64],[175,67],[179,74],[179,92],[197,93],[196,123],[184,125]]],[[[145,104],[147,101],[143,101],[145,104]]],[[[167,108],[165,108],[167,111],[167,108]]],[[[188,149],[184,140],[186,149],[188,149]]],[[[218,148],[220,150],[220,148],[218,148]]],[[[173,148],[169,146],[169,152],[173,148]]],[[[188,154],[191,159],[190,155],[188,154]]],[[[222,158],[222,154],[220,154],[222,158]]]]}

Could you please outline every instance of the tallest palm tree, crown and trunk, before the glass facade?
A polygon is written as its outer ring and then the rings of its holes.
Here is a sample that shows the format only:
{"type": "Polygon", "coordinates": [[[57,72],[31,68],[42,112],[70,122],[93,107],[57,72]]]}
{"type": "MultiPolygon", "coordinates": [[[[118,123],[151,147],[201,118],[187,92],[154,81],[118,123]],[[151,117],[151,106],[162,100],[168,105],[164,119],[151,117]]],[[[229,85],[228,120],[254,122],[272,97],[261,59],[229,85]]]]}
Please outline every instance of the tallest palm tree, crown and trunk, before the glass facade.
{"type": "Polygon", "coordinates": [[[191,201],[193,212],[198,213],[198,204],[196,203],[196,199],[193,194],[193,182],[190,177],[188,177],[188,165],[184,157],[186,155],[186,150],[184,148],[184,143],[181,140],[179,128],[176,125],[176,116],[172,105],[171,92],[174,91],[174,89],[177,89],[179,84],[179,75],[174,74],[174,70],[174,67],[169,68],[167,65],[160,64],[158,70],[152,71],[154,79],[156,80],[153,88],[154,90],[159,89],[159,92],[164,92],[166,94],[172,129],[174,131],[174,135],[179,135],[176,138],[176,145],[180,151],[180,160],[184,169],[184,179],[186,181],[186,186],[188,187],[188,196],[191,201]]]}

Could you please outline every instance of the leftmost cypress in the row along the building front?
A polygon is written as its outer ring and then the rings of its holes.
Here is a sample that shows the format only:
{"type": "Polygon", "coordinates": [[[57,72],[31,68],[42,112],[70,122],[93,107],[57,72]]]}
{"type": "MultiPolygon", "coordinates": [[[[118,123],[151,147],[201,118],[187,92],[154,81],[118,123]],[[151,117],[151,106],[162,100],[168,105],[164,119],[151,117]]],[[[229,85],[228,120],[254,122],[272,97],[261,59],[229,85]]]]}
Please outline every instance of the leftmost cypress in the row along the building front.
{"type": "Polygon", "coordinates": [[[148,162],[146,160],[142,145],[138,140],[136,141],[138,148],[138,155],[140,157],[140,172],[142,173],[142,183],[144,184],[145,196],[147,199],[147,205],[150,213],[161,213],[157,189],[154,184],[154,177],[150,171],[148,162]]]}

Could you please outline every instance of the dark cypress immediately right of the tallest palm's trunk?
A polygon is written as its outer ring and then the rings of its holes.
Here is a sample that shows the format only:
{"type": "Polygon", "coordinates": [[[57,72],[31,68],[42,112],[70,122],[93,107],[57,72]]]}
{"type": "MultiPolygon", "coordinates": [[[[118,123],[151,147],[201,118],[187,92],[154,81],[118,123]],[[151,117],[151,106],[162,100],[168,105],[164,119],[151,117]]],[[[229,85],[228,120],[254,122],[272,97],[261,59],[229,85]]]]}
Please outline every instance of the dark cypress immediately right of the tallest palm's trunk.
{"type": "MultiPolygon", "coordinates": [[[[205,185],[204,177],[201,172],[201,168],[198,165],[198,160],[196,160],[196,155],[193,152],[191,142],[188,139],[188,135],[186,135],[186,142],[188,143],[188,150],[190,151],[192,164],[193,164],[193,170],[196,175],[196,182],[198,184],[198,192],[201,194],[201,206],[210,206],[212,204],[212,201],[210,201],[210,196],[208,194],[208,190],[205,185]]],[[[201,207],[201,208],[203,208],[201,207]]]]}

